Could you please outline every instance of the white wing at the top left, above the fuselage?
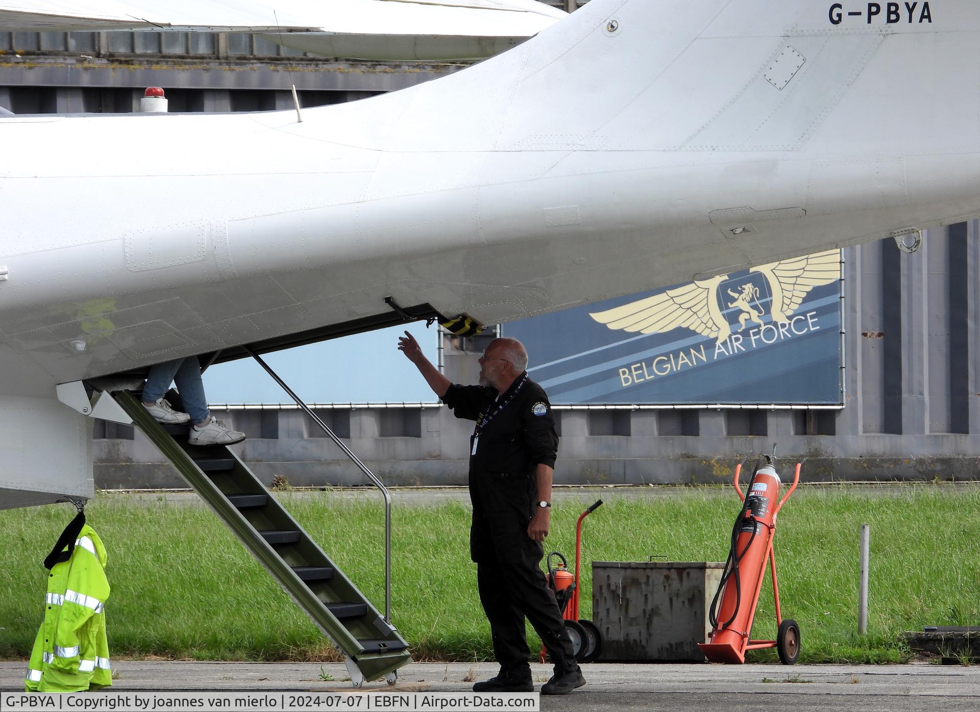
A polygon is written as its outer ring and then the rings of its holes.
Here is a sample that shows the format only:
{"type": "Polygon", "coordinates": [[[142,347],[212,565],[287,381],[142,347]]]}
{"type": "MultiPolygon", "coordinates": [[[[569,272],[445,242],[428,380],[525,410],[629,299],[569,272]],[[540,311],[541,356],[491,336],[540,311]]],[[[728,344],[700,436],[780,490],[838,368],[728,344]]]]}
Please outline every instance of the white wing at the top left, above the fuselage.
{"type": "Polygon", "coordinates": [[[0,0],[5,29],[261,32],[293,49],[366,60],[481,59],[564,16],[535,0],[0,0]]]}

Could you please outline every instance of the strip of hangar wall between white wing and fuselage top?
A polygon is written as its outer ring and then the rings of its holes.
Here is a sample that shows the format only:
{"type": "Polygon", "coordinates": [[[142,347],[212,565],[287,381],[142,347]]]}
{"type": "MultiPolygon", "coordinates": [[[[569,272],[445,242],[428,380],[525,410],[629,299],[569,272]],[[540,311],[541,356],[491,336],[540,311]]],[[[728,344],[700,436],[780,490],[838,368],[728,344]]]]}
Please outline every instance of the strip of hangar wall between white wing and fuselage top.
{"type": "Polygon", "coordinates": [[[403,89],[461,65],[340,61],[232,32],[5,32],[0,107],[15,114],[138,111],[147,86],[171,112],[292,109],[403,89]]]}

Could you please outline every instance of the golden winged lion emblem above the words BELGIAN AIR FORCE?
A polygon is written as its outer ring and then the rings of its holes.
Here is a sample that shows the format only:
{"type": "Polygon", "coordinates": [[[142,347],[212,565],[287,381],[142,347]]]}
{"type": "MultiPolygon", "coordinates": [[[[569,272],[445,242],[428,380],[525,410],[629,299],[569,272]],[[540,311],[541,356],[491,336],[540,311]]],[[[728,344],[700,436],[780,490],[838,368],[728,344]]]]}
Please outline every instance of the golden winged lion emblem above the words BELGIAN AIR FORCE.
{"type": "MultiPolygon", "coordinates": [[[[773,321],[789,321],[789,315],[803,304],[804,297],[813,289],[831,284],[841,278],[839,250],[807,255],[790,260],[760,264],[750,272],[761,274],[769,285],[772,302],[769,315],[773,321]]],[[[622,307],[597,311],[589,315],[611,329],[642,334],[662,334],[671,329],[684,327],[702,336],[713,336],[720,344],[731,335],[731,326],[718,304],[715,294],[728,278],[719,274],[711,279],[701,279],[668,289],[661,294],[630,302],[622,307]]],[[[741,328],[751,318],[762,323],[761,310],[752,306],[755,297],[757,307],[759,290],[751,284],[743,285],[738,292],[727,290],[732,301],[725,301],[729,309],[742,309],[739,315],[741,328]]]]}

